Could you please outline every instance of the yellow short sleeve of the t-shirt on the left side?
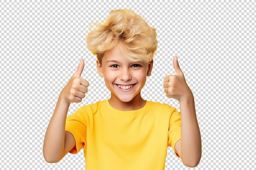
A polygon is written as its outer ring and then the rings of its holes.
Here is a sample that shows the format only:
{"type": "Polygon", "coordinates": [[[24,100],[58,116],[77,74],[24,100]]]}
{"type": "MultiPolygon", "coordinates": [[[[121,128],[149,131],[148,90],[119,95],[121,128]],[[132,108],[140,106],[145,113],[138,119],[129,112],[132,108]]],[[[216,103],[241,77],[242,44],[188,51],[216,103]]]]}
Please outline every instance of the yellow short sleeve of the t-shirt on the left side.
{"type": "Polygon", "coordinates": [[[76,154],[81,148],[86,148],[86,123],[79,111],[67,117],[65,131],[72,133],[76,141],[70,153],[76,154]]]}

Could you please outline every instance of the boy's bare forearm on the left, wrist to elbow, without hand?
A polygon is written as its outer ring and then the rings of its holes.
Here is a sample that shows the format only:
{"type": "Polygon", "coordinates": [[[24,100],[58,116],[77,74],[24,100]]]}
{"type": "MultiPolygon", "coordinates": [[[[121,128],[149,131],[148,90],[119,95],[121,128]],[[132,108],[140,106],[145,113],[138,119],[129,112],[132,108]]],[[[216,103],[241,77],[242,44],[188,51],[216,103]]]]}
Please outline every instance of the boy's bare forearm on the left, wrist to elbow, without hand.
{"type": "Polygon", "coordinates": [[[61,94],[45,133],[43,153],[46,161],[59,161],[62,158],[65,144],[65,121],[69,103],[61,94]]]}

